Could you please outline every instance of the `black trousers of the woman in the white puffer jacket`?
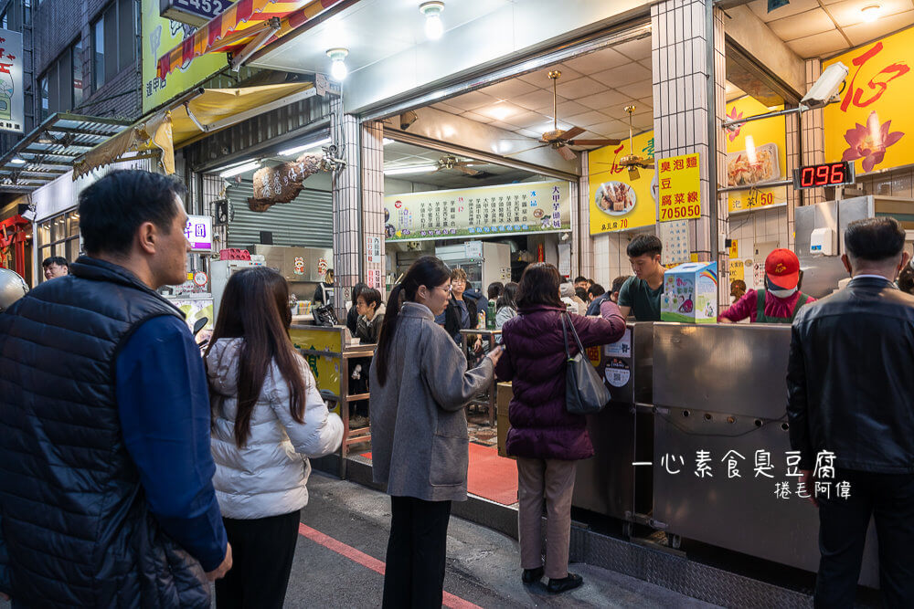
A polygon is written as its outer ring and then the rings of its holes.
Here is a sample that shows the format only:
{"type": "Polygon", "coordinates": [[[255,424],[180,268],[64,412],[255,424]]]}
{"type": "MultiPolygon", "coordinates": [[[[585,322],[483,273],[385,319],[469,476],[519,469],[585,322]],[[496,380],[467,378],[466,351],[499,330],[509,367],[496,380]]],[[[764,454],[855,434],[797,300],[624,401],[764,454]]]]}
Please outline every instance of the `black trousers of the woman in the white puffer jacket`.
{"type": "Polygon", "coordinates": [[[232,567],[216,581],[218,609],[282,609],[301,510],[255,520],[224,518],[232,567]]]}

